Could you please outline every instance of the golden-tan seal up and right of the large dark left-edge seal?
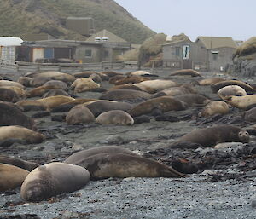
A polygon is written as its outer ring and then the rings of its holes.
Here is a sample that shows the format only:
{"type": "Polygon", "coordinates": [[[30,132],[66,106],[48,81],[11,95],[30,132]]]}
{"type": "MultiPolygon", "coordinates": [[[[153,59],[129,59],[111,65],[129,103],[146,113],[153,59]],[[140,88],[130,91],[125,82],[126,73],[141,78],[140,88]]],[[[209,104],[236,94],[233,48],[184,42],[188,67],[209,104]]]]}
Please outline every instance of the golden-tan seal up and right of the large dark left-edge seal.
{"type": "Polygon", "coordinates": [[[49,96],[43,99],[38,99],[37,102],[41,103],[48,111],[60,106],[63,103],[74,101],[75,99],[65,95],[49,96]]]}

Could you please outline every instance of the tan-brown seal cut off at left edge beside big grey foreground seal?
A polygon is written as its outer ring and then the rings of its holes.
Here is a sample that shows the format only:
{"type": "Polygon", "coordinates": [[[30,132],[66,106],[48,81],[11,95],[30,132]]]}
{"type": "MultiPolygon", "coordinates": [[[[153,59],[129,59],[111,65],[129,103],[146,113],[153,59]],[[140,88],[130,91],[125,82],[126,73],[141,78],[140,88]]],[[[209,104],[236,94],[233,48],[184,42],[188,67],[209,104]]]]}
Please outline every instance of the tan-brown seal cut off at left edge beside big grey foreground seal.
{"type": "Polygon", "coordinates": [[[29,171],[10,164],[0,163],[0,192],[20,187],[29,171]]]}

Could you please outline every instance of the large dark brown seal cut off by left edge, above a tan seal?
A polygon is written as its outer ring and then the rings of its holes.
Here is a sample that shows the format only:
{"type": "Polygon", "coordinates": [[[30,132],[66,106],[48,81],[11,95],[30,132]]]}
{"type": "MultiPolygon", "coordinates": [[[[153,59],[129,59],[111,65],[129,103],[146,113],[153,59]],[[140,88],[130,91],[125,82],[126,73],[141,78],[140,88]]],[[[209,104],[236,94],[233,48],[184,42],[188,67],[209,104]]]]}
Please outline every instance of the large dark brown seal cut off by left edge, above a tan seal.
{"type": "Polygon", "coordinates": [[[18,108],[0,102],[0,124],[20,125],[30,130],[36,130],[36,124],[32,118],[26,116],[18,108]]]}

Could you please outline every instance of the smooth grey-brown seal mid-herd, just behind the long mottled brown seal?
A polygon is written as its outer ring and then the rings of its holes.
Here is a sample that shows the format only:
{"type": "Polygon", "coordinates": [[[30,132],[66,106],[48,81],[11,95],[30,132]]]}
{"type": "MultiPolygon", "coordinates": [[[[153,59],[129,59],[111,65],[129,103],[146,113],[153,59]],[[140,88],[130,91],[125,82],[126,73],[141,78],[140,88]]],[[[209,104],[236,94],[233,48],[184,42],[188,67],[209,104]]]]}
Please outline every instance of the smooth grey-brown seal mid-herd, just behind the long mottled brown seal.
{"type": "Polygon", "coordinates": [[[149,98],[151,98],[151,95],[143,91],[133,89],[114,89],[107,91],[105,94],[101,95],[99,99],[109,101],[130,101],[137,99],[148,100],[149,98]]]}

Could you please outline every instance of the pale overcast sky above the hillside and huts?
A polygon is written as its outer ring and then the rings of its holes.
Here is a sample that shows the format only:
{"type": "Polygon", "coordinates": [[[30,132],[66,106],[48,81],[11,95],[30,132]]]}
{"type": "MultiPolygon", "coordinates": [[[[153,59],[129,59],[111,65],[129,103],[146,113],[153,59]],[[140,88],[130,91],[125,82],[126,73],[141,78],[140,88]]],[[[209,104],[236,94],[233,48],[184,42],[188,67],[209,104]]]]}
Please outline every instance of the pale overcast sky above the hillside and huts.
{"type": "Polygon", "coordinates": [[[192,41],[198,36],[256,36],[256,0],[115,0],[154,32],[192,41]]]}

